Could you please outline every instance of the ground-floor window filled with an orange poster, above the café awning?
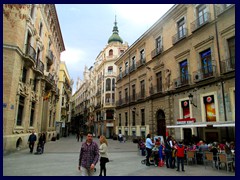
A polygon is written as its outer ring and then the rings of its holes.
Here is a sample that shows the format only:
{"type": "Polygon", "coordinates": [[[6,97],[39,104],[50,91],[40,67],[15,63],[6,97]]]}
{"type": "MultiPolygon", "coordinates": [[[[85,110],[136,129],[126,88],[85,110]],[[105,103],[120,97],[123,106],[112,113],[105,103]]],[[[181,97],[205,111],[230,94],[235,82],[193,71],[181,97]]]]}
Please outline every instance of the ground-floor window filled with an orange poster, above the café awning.
{"type": "Polygon", "coordinates": [[[214,95],[203,97],[203,102],[205,105],[206,122],[216,122],[214,95]]]}

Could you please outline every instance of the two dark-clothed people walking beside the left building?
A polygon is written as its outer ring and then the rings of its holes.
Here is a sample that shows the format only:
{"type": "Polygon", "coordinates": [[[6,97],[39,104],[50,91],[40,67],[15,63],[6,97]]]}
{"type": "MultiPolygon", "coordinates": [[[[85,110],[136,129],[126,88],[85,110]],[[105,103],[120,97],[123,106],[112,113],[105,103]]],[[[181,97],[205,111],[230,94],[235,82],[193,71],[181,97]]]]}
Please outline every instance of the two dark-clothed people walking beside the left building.
{"type": "MultiPolygon", "coordinates": [[[[30,153],[33,153],[34,145],[37,141],[37,135],[35,134],[35,131],[32,131],[28,138],[28,145],[30,149],[30,153]]],[[[38,138],[38,144],[36,149],[36,154],[42,154],[44,152],[44,144],[46,143],[46,135],[45,133],[41,133],[38,138]]]]}

